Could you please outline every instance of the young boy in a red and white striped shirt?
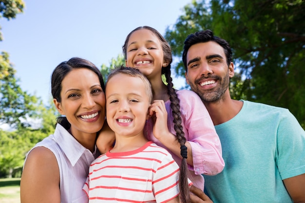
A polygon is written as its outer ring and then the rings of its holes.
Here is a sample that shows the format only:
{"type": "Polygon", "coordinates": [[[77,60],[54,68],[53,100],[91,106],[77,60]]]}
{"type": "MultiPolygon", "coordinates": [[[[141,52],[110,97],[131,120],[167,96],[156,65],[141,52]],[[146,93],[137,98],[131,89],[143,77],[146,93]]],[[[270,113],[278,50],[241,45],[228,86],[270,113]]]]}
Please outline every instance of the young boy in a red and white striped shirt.
{"type": "MultiPolygon", "coordinates": [[[[89,203],[180,202],[179,166],[166,149],[144,135],[151,101],[150,82],[138,70],[121,67],[109,75],[107,122],[115,133],[115,144],[90,166],[84,185],[89,203]]],[[[150,111],[160,110],[152,107],[150,111]]],[[[96,144],[104,145],[101,139],[96,144]]]]}

